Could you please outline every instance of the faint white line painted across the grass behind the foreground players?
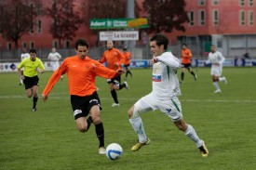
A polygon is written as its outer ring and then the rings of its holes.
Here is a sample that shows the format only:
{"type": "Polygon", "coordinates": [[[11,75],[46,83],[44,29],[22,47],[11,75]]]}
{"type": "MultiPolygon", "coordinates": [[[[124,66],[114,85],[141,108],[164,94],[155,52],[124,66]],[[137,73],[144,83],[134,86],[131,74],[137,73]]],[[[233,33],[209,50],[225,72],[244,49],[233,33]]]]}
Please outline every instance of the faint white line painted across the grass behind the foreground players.
{"type": "MultiPolygon", "coordinates": [[[[27,98],[25,95],[24,96],[0,96],[0,98],[27,98]]],[[[39,97],[41,98],[41,97],[39,97]]],[[[51,97],[49,96],[48,99],[66,99],[68,97],[51,97]]],[[[101,100],[109,100],[113,98],[101,98],[101,100]]],[[[118,98],[121,100],[138,100],[140,98],[118,98]]],[[[256,103],[256,100],[238,100],[238,99],[207,99],[207,100],[200,100],[200,99],[180,99],[182,102],[247,102],[247,103],[256,103]]]]}

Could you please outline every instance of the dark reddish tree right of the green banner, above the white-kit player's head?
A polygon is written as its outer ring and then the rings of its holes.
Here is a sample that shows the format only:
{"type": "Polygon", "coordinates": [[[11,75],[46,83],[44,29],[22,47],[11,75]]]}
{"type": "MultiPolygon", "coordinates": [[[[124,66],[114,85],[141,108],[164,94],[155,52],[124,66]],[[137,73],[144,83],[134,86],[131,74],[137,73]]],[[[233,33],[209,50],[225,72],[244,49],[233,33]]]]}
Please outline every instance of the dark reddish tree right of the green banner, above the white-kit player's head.
{"type": "Polygon", "coordinates": [[[149,14],[149,33],[165,31],[171,33],[173,29],[185,32],[182,23],[189,21],[184,10],[185,0],[145,0],[143,9],[149,14]],[[157,2],[158,1],[158,2],[157,2]]]}

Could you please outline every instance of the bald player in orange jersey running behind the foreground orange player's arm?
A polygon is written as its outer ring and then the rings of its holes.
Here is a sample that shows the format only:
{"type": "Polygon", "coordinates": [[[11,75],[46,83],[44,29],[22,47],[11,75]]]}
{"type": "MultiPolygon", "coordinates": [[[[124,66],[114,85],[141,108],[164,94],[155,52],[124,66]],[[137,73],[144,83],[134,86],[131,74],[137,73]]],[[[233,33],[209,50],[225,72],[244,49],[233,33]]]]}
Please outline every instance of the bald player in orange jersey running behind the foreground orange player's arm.
{"type": "MultiPolygon", "coordinates": [[[[107,50],[103,53],[102,58],[99,60],[101,63],[107,62],[108,68],[112,70],[121,69],[122,63],[124,62],[125,57],[123,54],[114,47],[113,41],[107,41],[107,50]]],[[[120,106],[117,94],[115,90],[121,90],[122,88],[126,87],[128,89],[128,83],[124,82],[122,85],[121,83],[121,75],[116,75],[112,79],[108,79],[107,83],[109,85],[112,98],[114,99],[115,103],[113,103],[113,107],[120,106]]]]}

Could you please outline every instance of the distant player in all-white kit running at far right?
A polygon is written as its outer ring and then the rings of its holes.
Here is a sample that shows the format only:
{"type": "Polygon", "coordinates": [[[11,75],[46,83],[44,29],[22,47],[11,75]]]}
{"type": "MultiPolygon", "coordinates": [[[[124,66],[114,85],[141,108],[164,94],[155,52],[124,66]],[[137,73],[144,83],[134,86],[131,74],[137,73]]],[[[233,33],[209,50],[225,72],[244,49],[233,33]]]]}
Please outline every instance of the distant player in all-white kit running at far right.
{"type": "Polygon", "coordinates": [[[222,53],[220,51],[216,51],[216,46],[211,45],[208,60],[206,63],[211,63],[210,75],[212,78],[213,85],[216,88],[214,93],[222,92],[222,90],[218,84],[219,81],[227,84],[226,77],[221,77],[222,63],[224,62],[224,60],[225,60],[225,58],[222,56],[222,53]]]}

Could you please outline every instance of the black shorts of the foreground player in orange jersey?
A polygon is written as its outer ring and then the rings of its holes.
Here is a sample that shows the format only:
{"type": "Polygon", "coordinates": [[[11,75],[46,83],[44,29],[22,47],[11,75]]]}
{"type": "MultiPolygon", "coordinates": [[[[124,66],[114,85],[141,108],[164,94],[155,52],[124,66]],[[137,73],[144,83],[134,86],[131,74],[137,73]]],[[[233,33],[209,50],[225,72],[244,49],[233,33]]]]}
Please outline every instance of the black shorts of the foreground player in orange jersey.
{"type": "Polygon", "coordinates": [[[74,111],[74,120],[79,117],[87,117],[94,105],[98,105],[101,110],[101,101],[96,91],[87,97],[71,95],[70,100],[74,111]]]}

